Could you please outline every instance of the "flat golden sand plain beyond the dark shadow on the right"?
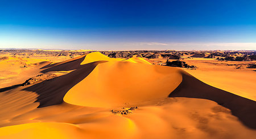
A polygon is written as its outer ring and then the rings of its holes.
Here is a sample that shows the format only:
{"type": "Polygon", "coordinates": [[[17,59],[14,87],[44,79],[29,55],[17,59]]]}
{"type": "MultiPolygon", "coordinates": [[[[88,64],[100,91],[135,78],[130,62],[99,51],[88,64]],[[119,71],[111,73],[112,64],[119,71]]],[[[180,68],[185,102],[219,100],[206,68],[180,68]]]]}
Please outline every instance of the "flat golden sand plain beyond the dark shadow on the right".
{"type": "Polygon", "coordinates": [[[246,68],[244,64],[253,62],[223,61],[215,59],[194,58],[185,62],[195,64],[196,70],[185,69],[197,79],[216,88],[240,95],[256,101],[256,72],[246,68]],[[237,66],[236,66],[237,65],[237,66]]]}

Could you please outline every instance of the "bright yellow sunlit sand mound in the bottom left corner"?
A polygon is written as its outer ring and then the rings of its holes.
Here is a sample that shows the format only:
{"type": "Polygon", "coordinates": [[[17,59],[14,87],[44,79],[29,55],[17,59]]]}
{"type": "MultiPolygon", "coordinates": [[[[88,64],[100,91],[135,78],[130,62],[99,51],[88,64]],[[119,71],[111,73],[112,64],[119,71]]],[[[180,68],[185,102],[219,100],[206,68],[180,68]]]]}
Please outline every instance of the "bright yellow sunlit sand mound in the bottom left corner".
{"type": "Polygon", "coordinates": [[[79,138],[80,132],[73,124],[67,123],[29,123],[3,127],[2,139],[11,138],[79,138]]]}

